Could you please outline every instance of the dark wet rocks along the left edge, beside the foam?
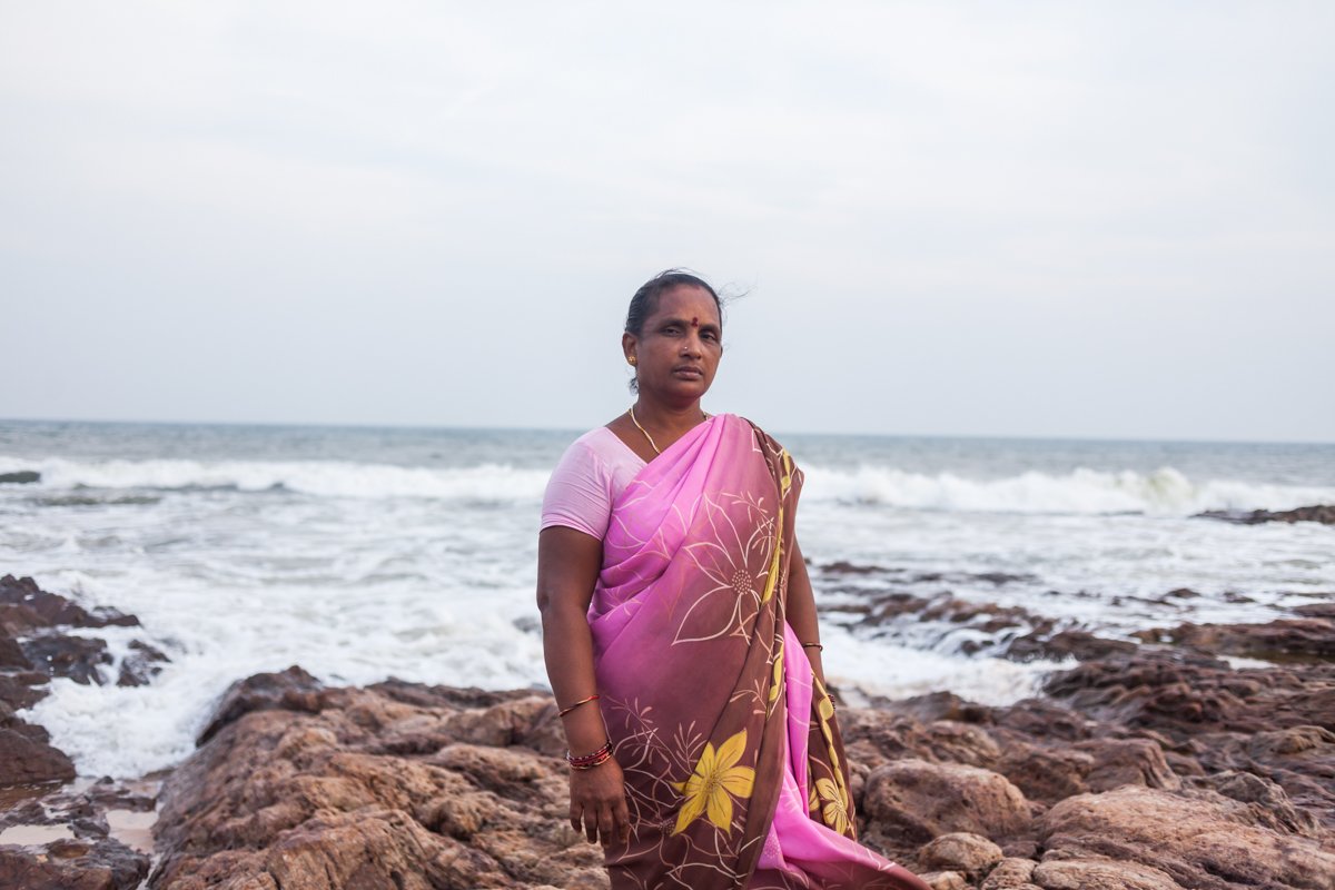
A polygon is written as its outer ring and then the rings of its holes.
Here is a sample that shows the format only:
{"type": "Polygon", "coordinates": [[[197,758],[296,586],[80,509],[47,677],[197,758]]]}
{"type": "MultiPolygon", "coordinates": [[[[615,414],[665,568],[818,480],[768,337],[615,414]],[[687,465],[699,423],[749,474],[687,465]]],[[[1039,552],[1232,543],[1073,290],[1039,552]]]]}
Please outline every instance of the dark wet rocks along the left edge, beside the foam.
{"type": "Polygon", "coordinates": [[[127,845],[108,814],[151,813],[152,793],[109,779],[80,787],[47,730],[15,714],[45,698],[52,678],[121,686],[151,679],[167,656],[148,643],[131,642],[112,674],[105,640],[69,632],[138,626],[134,615],[84,608],[31,578],[0,578],[0,889],[131,890],[148,875],[147,830],[127,845]]]}

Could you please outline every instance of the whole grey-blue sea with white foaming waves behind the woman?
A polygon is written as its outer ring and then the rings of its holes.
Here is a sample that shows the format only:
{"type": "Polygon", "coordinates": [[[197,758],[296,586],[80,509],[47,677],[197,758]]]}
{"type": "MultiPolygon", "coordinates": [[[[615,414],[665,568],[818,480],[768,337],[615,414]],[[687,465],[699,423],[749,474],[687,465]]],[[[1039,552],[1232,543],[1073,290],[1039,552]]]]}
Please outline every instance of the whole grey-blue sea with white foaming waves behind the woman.
{"type": "MultiPolygon", "coordinates": [[[[0,420],[0,474],[40,474],[0,483],[0,574],[138,615],[73,631],[116,659],[135,639],[171,658],[147,686],[116,664],[56,679],[23,717],[80,774],[134,778],[187,757],[258,671],[546,689],[538,516],[579,432],[0,420]]],[[[1195,518],[1335,503],[1335,444],[776,436],[805,471],[826,674],[854,702],[1000,705],[1063,666],[992,654],[1024,628],[869,622],[886,592],[1111,638],[1335,599],[1335,527],[1195,518]]]]}

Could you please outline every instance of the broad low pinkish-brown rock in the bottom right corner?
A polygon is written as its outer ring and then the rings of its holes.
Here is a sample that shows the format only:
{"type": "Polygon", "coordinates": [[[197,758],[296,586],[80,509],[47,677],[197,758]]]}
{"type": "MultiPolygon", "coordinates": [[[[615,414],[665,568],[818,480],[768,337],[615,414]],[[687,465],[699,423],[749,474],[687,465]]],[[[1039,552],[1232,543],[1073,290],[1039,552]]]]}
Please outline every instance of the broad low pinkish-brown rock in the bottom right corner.
{"type": "MultiPolygon", "coordinates": [[[[1310,838],[1264,826],[1250,805],[1214,791],[1125,786],[1083,794],[1053,806],[1040,822],[1039,837],[1048,854],[1035,871],[1035,882],[1044,887],[1335,887],[1335,853],[1310,838]],[[1055,873],[1044,871],[1049,859],[1099,858],[1159,870],[1176,885],[1095,885],[1091,873],[1068,878],[1068,866],[1056,863],[1055,873]]],[[[1147,873],[1137,879],[1164,878],[1147,873]]]]}

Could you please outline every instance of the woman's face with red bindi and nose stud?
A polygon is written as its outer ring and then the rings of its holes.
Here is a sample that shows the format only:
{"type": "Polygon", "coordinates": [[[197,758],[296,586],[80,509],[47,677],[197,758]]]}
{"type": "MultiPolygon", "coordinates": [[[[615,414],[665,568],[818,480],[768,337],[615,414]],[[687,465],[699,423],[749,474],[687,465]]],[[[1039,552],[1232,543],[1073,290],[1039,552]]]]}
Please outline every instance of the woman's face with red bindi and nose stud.
{"type": "Polygon", "coordinates": [[[682,284],[658,296],[639,336],[622,347],[634,359],[639,392],[669,402],[692,402],[709,391],[724,355],[722,320],[709,291],[682,284]]]}

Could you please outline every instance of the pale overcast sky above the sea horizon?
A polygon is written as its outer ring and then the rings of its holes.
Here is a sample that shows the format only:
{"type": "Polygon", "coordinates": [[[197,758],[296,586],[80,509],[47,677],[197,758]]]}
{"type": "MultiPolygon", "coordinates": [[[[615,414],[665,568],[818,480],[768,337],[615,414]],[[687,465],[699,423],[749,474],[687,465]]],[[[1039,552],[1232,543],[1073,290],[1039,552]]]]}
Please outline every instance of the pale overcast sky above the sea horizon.
{"type": "Polygon", "coordinates": [[[0,0],[0,418],[1335,442],[1331,3],[0,0]]]}

